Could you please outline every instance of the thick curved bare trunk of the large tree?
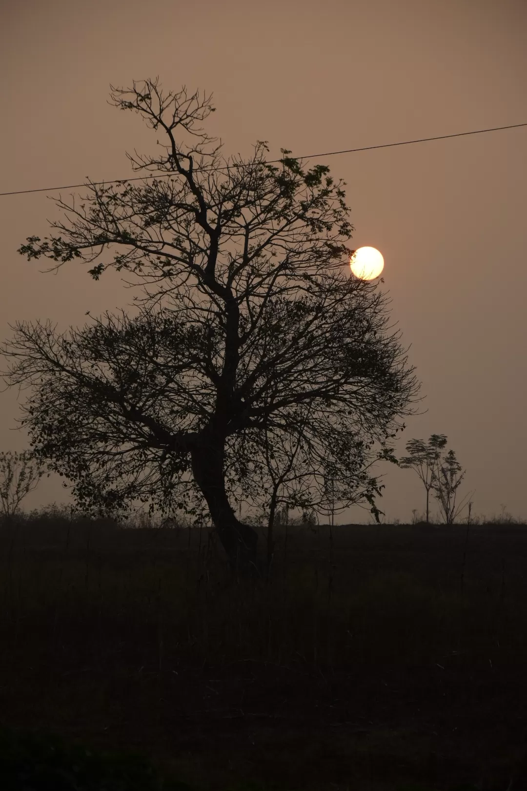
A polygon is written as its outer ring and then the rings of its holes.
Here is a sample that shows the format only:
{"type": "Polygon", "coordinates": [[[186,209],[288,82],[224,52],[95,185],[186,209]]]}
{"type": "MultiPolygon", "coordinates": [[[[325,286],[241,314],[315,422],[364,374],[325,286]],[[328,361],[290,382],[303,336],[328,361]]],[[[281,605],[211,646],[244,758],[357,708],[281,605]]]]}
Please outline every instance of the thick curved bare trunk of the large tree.
{"type": "Polygon", "coordinates": [[[260,577],[258,533],[240,522],[228,501],[224,479],[224,444],[219,438],[203,437],[191,451],[194,480],[209,506],[230,569],[243,577],[260,577]]]}

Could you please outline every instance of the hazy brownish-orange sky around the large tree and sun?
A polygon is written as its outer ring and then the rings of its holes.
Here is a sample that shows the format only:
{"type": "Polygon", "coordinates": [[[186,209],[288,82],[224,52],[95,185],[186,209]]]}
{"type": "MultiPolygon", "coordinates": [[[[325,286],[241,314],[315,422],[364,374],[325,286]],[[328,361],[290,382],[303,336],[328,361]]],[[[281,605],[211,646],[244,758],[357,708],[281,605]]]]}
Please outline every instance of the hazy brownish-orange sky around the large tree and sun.
{"type": "MultiPolygon", "coordinates": [[[[109,84],[156,75],[166,89],[213,91],[209,129],[226,154],[249,155],[257,139],[274,158],[280,147],[302,155],[527,121],[525,0],[3,0],[0,9],[0,191],[130,176],[125,151],[152,152],[156,136],[107,104],[109,84]]],[[[476,513],[504,504],[527,517],[527,127],[317,161],[348,183],[352,246],[384,255],[393,320],[427,396],[399,452],[412,437],[446,433],[476,513]]],[[[55,204],[45,192],[0,201],[2,339],[16,320],[50,318],[63,331],[139,293],[113,271],[94,282],[78,263],[41,274],[42,261],[16,251],[47,235],[55,204]]],[[[27,447],[13,431],[20,416],[17,392],[0,393],[0,448],[27,447]]],[[[412,471],[386,465],[385,483],[387,517],[423,509],[412,471]]],[[[24,504],[67,499],[57,476],[24,504]]]]}

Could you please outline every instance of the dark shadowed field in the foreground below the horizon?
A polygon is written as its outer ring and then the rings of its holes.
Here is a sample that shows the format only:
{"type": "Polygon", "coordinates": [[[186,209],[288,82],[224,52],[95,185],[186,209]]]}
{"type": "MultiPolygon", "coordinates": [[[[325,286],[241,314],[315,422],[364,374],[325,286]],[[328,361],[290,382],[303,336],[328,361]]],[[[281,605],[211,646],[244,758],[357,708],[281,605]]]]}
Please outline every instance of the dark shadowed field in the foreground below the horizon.
{"type": "Polygon", "coordinates": [[[0,532],[0,788],[527,791],[527,528],[198,533],[0,532]]]}

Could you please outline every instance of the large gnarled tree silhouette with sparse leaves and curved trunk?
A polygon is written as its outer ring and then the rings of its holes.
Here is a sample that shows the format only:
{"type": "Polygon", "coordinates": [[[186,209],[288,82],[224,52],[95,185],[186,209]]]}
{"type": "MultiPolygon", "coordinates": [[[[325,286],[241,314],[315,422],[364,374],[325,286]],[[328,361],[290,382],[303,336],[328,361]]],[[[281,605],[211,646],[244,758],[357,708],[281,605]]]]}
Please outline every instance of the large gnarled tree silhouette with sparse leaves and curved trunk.
{"type": "Polygon", "coordinates": [[[232,567],[248,571],[258,535],[232,501],[264,469],[265,431],[273,447],[299,443],[313,489],[330,461],[341,494],[356,498],[359,483],[375,508],[375,483],[356,476],[390,456],[419,384],[386,296],[349,273],[352,226],[329,168],[286,149],[270,164],[265,142],[221,159],[199,126],[214,110],[199,92],[164,93],[156,79],[111,98],[165,134],[158,156],[128,155],[158,176],[89,181],[81,202],[58,199],[57,235],[19,252],[54,271],[92,264],[96,280],[108,267],[133,273],[139,316],[105,314],[69,335],[17,323],[6,378],[32,385],[23,423],[79,507],[208,510],[232,567]]]}

